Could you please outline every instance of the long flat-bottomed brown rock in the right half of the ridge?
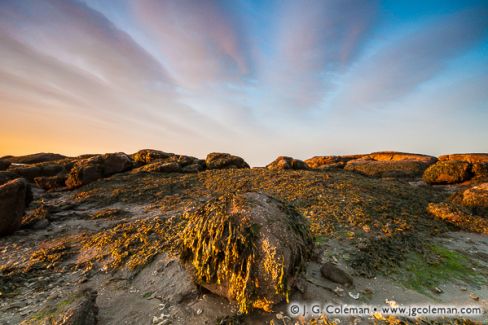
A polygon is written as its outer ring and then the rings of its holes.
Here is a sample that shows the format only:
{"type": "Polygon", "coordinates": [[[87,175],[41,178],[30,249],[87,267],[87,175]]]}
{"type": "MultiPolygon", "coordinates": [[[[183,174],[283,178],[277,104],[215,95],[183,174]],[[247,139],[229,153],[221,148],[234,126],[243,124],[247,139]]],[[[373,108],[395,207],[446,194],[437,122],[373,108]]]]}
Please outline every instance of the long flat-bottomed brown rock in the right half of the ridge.
{"type": "Polygon", "coordinates": [[[344,170],[354,171],[373,177],[420,177],[427,164],[417,160],[363,160],[349,161],[344,170]]]}

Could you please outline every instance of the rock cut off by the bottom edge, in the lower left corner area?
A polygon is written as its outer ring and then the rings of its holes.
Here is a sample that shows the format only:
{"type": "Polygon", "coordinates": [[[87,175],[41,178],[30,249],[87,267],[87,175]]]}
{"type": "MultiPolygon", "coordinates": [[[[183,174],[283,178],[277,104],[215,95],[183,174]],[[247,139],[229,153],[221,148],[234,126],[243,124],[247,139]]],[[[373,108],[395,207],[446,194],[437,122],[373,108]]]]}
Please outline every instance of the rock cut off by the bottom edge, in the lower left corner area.
{"type": "Polygon", "coordinates": [[[61,299],[49,299],[44,306],[21,324],[59,324],[59,325],[95,325],[97,324],[97,292],[81,289],[61,299]]]}

